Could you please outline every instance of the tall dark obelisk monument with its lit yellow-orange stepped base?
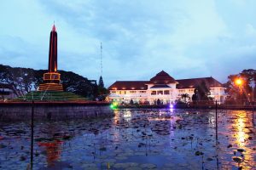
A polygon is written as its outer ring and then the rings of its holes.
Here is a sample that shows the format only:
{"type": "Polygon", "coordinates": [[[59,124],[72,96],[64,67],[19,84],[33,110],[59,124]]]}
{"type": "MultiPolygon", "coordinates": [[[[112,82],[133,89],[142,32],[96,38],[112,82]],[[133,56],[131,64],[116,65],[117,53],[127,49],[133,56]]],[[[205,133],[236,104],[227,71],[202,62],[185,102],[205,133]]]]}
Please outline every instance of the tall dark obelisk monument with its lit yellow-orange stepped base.
{"type": "Polygon", "coordinates": [[[39,85],[38,91],[63,91],[61,74],[57,72],[57,32],[55,25],[49,37],[48,72],[44,73],[44,83],[39,85]]]}

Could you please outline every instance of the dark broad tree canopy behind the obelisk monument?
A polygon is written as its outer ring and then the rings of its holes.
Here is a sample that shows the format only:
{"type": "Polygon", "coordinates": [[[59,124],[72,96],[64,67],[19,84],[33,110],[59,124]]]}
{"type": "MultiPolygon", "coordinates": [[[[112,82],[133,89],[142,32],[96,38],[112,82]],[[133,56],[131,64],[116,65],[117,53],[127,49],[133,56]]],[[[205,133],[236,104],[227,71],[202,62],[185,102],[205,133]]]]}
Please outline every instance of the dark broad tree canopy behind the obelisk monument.
{"type": "MultiPolygon", "coordinates": [[[[8,83],[16,96],[38,89],[43,83],[43,76],[47,70],[33,70],[30,68],[10,67],[0,65],[0,83],[8,83]]],[[[72,71],[59,71],[64,91],[73,92],[89,99],[95,99],[99,92],[96,83],[91,83],[72,71]]]]}

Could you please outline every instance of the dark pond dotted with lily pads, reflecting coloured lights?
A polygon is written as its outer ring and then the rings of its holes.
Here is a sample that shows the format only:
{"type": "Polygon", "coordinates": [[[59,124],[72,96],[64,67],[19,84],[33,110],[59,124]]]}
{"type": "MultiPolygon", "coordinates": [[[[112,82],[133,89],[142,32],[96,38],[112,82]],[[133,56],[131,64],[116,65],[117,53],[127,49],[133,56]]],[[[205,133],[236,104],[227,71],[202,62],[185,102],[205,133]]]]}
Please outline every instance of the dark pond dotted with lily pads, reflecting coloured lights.
{"type": "MultiPolygon", "coordinates": [[[[252,111],[124,109],[35,122],[33,169],[253,169],[252,111]]],[[[30,122],[0,122],[0,169],[30,165],[30,122]]]]}

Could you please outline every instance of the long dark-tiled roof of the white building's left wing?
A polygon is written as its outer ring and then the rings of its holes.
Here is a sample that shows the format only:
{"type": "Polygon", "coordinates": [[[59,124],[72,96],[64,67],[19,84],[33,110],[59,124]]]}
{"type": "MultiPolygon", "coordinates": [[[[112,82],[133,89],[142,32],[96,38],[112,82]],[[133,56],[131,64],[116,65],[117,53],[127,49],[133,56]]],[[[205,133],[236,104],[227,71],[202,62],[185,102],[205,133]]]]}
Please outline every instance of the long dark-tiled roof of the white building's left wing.
{"type": "Polygon", "coordinates": [[[148,81],[116,81],[108,89],[109,90],[147,90],[148,81]]]}

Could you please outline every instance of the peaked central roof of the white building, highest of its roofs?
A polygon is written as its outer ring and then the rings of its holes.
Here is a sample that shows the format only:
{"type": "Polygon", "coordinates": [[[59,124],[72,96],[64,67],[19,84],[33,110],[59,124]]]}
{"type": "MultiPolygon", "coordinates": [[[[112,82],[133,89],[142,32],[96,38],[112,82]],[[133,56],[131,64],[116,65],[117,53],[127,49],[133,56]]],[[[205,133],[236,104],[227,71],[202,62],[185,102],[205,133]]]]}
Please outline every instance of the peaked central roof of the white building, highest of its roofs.
{"type": "Polygon", "coordinates": [[[172,78],[165,71],[160,71],[155,77],[151,78],[149,82],[154,84],[176,83],[174,78],[172,78]]]}

